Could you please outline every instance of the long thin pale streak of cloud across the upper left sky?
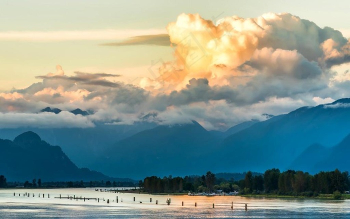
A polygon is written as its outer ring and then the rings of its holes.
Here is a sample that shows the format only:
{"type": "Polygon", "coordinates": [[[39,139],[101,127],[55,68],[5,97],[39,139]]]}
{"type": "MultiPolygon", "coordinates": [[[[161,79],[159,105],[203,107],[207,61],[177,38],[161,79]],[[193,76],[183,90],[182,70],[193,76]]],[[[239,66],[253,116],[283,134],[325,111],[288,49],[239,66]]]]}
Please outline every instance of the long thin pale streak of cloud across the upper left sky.
{"type": "Polygon", "coordinates": [[[92,29],[70,31],[2,31],[0,40],[63,41],[116,40],[135,35],[164,34],[164,29],[92,29]]]}

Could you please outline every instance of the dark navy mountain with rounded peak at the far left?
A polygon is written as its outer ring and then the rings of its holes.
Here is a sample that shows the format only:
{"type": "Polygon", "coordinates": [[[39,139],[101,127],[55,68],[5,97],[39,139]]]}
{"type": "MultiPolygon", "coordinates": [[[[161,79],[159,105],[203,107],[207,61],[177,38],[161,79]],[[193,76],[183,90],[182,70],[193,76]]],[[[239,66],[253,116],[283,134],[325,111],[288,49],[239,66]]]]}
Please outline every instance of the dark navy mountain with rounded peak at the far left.
{"type": "Polygon", "coordinates": [[[13,141],[0,139],[0,154],[0,172],[11,181],[112,179],[97,171],[78,168],[59,146],[46,143],[32,131],[16,136],[13,141]]]}

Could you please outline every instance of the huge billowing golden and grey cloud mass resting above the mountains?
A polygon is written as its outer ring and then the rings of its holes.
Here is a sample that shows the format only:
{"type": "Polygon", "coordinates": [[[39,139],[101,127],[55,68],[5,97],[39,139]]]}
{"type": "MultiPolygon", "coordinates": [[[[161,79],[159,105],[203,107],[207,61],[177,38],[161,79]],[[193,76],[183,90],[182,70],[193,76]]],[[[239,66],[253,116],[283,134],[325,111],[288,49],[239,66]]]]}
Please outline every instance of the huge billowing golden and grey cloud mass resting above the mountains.
{"type": "Polygon", "coordinates": [[[0,111],[82,108],[94,111],[79,120],[82,126],[196,120],[208,129],[225,130],[245,120],[264,120],[263,113],[277,115],[350,96],[347,71],[336,70],[350,61],[350,42],[330,27],[289,13],[229,16],[217,23],[183,13],[166,30],[168,35],[135,34],[108,44],[172,47],[174,59],[153,61],[151,77],[128,84],[117,74],[66,75],[58,65],[56,72],[37,76],[40,82],[0,93],[0,111]]]}

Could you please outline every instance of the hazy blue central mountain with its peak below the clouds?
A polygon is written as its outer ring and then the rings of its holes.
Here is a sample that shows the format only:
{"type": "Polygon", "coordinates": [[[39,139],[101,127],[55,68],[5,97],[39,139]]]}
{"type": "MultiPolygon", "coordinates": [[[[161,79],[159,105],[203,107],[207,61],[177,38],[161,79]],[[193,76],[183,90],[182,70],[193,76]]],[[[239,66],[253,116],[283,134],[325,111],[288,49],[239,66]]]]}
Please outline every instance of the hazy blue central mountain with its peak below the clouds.
{"type": "Polygon", "coordinates": [[[210,168],[211,154],[218,152],[216,143],[215,135],[196,121],[160,125],[119,140],[105,151],[98,169],[133,178],[202,174],[210,168]]]}

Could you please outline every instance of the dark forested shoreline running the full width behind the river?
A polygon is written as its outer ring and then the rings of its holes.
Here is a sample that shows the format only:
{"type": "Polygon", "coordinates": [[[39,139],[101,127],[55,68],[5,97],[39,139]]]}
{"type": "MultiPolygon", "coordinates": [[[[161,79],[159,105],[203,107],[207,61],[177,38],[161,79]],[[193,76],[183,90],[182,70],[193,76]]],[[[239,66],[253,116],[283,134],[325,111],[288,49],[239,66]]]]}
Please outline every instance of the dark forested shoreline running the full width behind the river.
{"type": "MultiPolygon", "coordinates": [[[[230,175],[232,173],[227,173],[230,175]]],[[[223,174],[220,173],[220,176],[223,174]]],[[[5,176],[0,176],[0,187],[140,187],[140,191],[147,193],[220,193],[238,192],[239,195],[289,195],[317,197],[319,194],[340,195],[348,193],[350,186],[347,171],[320,171],[316,174],[308,172],[286,170],[280,172],[277,168],[266,170],[264,173],[248,171],[244,178],[235,180],[216,177],[211,171],[205,175],[190,176],[147,176],[133,182],[116,181],[61,181],[41,182],[41,179],[32,179],[31,182],[7,182],[5,176]]]]}

